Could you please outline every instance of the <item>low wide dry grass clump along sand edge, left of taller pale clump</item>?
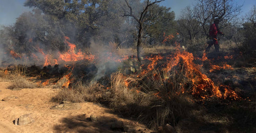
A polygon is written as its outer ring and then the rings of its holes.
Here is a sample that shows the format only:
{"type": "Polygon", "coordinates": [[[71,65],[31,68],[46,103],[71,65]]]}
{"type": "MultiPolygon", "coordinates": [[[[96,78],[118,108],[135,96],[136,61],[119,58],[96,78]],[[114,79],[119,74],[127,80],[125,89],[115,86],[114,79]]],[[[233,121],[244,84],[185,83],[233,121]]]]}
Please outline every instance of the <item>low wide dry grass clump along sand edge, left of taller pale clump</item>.
{"type": "Polygon", "coordinates": [[[104,88],[97,82],[77,82],[70,88],[63,88],[52,101],[61,103],[71,102],[100,102],[103,99],[104,88]]]}

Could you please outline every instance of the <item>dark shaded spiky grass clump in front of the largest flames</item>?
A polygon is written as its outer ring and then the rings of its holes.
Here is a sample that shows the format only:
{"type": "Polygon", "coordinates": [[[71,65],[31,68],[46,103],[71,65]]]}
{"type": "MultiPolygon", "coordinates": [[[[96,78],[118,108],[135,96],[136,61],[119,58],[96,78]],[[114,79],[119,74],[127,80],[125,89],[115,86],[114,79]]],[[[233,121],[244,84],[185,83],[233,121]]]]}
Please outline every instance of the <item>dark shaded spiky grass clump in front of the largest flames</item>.
{"type": "Polygon", "coordinates": [[[151,127],[164,126],[166,123],[175,126],[179,120],[188,116],[188,108],[192,104],[183,88],[188,82],[185,75],[177,74],[175,70],[168,73],[155,71],[151,78],[146,79],[145,91],[153,93],[155,99],[144,113],[143,120],[149,120],[151,127]]]}

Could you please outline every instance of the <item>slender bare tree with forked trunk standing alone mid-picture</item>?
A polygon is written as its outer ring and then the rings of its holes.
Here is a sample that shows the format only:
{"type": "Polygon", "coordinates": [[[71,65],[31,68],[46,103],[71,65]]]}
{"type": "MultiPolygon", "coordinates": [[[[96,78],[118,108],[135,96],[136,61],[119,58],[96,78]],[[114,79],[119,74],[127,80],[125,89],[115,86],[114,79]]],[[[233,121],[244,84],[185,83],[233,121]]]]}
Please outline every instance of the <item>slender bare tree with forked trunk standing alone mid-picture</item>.
{"type": "Polygon", "coordinates": [[[143,6],[142,12],[140,12],[139,16],[136,16],[133,12],[133,7],[129,4],[129,0],[124,0],[126,3],[126,6],[130,9],[130,11],[124,11],[123,16],[131,16],[133,17],[137,23],[138,23],[138,41],[137,41],[137,58],[138,61],[141,63],[141,58],[140,58],[140,51],[141,51],[141,43],[142,43],[142,38],[143,38],[143,29],[144,29],[144,22],[146,21],[146,14],[148,12],[148,8],[156,3],[160,3],[164,0],[155,0],[155,1],[146,1],[146,5],[143,6]]]}

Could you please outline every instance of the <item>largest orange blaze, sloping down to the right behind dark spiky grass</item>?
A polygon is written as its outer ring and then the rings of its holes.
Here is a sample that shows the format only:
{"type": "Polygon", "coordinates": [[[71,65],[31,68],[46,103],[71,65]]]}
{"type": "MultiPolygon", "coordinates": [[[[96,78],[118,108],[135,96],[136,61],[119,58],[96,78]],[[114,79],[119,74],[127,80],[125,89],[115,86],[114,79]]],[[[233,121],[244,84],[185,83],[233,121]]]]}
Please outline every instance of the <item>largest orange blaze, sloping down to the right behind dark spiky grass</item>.
{"type": "MultiPolygon", "coordinates": [[[[184,65],[184,68],[186,71],[184,72],[189,79],[191,79],[193,86],[191,87],[191,94],[200,96],[201,98],[209,98],[212,96],[216,96],[218,98],[233,98],[238,99],[238,95],[232,91],[231,89],[225,89],[226,92],[221,92],[220,87],[216,86],[214,82],[208,78],[205,74],[202,74],[200,72],[199,65],[195,64],[193,62],[194,56],[191,53],[188,53],[186,51],[179,51],[179,46],[177,47],[178,51],[174,55],[170,55],[169,57],[166,57],[167,65],[163,69],[166,73],[172,70],[172,68],[180,61],[182,61],[182,64],[184,65]]],[[[148,66],[148,69],[150,70],[153,68],[152,66],[154,63],[148,66]]],[[[223,65],[223,69],[232,69],[230,65],[223,65]]],[[[147,71],[147,70],[146,70],[147,71]]],[[[145,72],[143,72],[144,74],[145,72]]],[[[164,80],[168,80],[164,79],[164,80]]],[[[184,89],[184,88],[183,88],[184,89]]],[[[184,91],[182,91],[184,93],[184,91]]],[[[158,95],[158,94],[156,94],[158,95]]]]}

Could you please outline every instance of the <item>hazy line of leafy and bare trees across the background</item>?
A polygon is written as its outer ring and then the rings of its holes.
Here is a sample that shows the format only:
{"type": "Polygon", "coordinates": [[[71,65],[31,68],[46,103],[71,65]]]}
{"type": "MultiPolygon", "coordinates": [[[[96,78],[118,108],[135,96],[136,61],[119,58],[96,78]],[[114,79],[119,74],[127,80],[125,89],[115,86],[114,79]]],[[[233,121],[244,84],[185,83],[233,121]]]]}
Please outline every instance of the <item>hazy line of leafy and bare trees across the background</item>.
{"type": "Polygon", "coordinates": [[[144,46],[172,45],[174,40],[185,45],[206,38],[209,25],[214,17],[219,17],[225,39],[238,44],[244,42],[240,46],[246,46],[246,52],[255,53],[255,6],[247,16],[238,19],[242,5],[232,0],[198,0],[175,19],[174,11],[154,2],[161,1],[27,0],[24,6],[33,10],[20,15],[14,25],[1,29],[1,45],[6,51],[28,55],[35,52],[37,46],[65,51],[63,36],[68,36],[78,48],[90,47],[91,41],[105,45],[111,41],[117,47],[134,47],[140,25],[144,46]],[[150,6],[142,14],[145,5],[150,6]],[[140,15],[143,15],[142,24],[135,19],[140,15]],[[171,34],[175,38],[166,41],[171,34]]]}

